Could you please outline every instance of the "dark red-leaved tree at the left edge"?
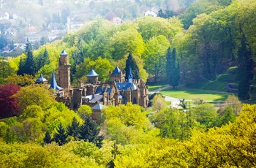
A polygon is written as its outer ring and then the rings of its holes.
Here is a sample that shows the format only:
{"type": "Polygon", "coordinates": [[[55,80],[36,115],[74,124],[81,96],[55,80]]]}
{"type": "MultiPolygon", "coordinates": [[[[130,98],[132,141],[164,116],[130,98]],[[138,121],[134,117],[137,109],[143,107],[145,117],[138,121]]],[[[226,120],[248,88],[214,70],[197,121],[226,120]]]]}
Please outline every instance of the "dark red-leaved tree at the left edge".
{"type": "Polygon", "coordinates": [[[7,118],[18,113],[18,102],[12,95],[19,90],[20,86],[13,83],[0,86],[0,118],[7,118]]]}

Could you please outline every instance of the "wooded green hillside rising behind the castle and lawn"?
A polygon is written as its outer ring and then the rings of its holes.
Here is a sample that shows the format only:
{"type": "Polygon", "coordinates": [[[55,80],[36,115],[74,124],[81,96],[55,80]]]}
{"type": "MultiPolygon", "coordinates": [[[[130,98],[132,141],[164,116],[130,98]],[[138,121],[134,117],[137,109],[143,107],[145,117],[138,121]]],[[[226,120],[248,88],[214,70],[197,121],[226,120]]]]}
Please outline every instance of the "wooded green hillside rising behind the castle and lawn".
{"type": "MultiPolygon", "coordinates": [[[[165,11],[161,15],[163,18],[143,17],[121,25],[97,18],[69,32],[63,39],[34,50],[36,76],[42,73],[50,79],[52,68],[57,68],[59,54],[65,49],[72,64],[73,85],[77,85],[78,80],[86,80],[90,69],[99,74],[99,80],[108,80],[108,73],[115,65],[124,69],[124,61],[131,51],[143,80],[149,76],[165,81],[167,49],[171,47],[177,51],[180,83],[214,81],[234,66],[240,69],[240,75],[235,76],[240,77],[227,80],[241,83],[239,79],[247,76],[243,81],[250,85],[251,72],[254,73],[252,59],[256,53],[255,7],[252,0],[202,0],[173,18],[168,18],[165,11]],[[45,49],[50,64],[40,62],[45,49]],[[246,57],[244,50],[248,50],[246,57]],[[249,69],[243,68],[245,66],[249,69]]],[[[22,58],[25,59],[26,54],[22,58]]],[[[11,61],[14,72],[18,70],[19,61],[20,58],[11,61]]]]}

